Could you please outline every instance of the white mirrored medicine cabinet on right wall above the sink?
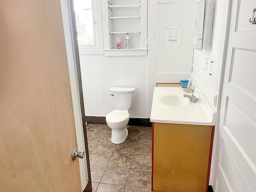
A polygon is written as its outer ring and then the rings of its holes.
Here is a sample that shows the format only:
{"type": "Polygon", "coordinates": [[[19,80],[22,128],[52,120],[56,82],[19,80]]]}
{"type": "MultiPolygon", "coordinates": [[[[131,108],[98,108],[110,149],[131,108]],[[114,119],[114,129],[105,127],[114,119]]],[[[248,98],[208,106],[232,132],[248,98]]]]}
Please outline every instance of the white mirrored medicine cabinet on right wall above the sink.
{"type": "Polygon", "coordinates": [[[215,0],[198,0],[196,12],[195,48],[202,50],[212,43],[215,0]]]}

